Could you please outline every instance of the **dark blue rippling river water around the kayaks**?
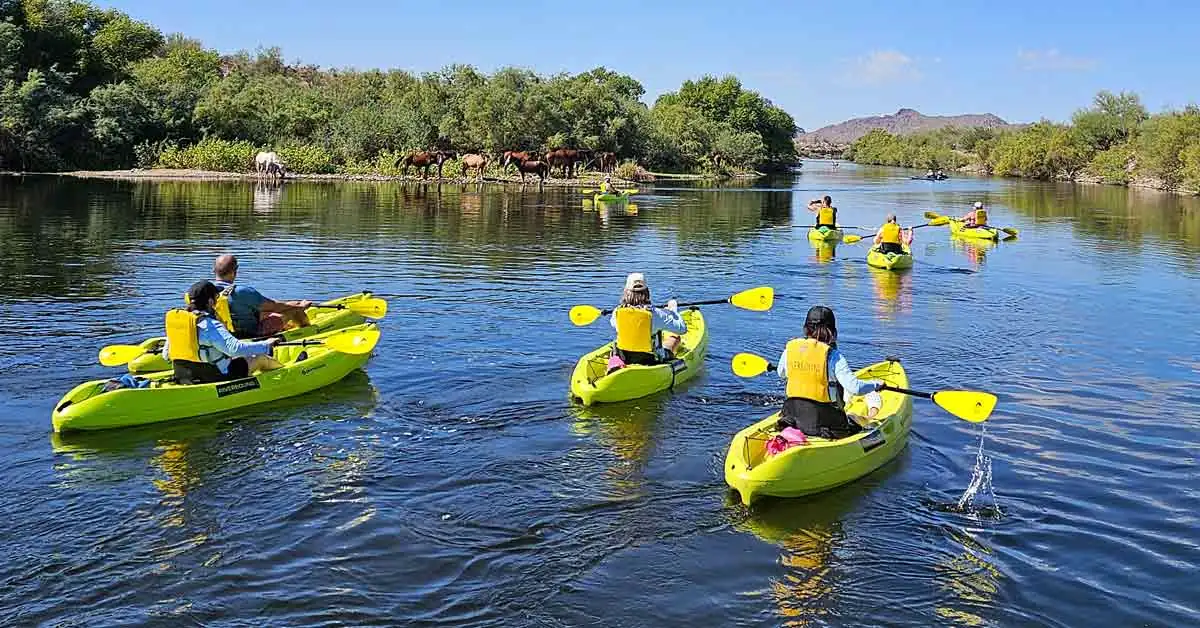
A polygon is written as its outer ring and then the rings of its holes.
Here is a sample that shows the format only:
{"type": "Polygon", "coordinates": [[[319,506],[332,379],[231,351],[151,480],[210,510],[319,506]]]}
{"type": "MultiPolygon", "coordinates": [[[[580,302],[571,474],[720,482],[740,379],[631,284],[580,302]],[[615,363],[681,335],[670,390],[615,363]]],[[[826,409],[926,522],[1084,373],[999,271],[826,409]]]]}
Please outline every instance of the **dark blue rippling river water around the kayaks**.
{"type": "Polygon", "coordinates": [[[1200,622],[1200,203],[1114,187],[833,169],[568,190],[0,181],[5,624],[1184,626],[1200,622]],[[902,223],[977,199],[1015,241],[917,232],[917,264],[815,250],[804,204],[902,223]],[[366,370],[233,414],[50,433],[98,347],[157,335],[215,255],[276,298],[390,301],[366,370]],[[704,372],[583,411],[574,360],[644,271],[706,309],[704,372]],[[918,402],[907,449],[817,496],[738,506],[730,437],[772,412],[814,304],[853,364],[1000,405],[985,437],[918,402]],[[994,492],[962,508],[983,437],[994,492]]]}

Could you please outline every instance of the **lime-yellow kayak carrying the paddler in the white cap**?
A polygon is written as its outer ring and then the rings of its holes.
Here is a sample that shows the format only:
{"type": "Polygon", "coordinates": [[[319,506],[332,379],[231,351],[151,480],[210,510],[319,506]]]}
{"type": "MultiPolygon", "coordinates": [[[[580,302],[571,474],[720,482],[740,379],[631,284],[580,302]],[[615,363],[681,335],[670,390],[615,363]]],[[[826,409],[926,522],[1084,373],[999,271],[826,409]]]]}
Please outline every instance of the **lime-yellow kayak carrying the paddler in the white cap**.
{"type": "Polygon", "coordinates": [[[654,366],[629,365],[611,375],[608,355],[612,342],[583,355],[571,373],[571,396],[584,406],[611,403],[653,395],[690,379],[700,371],[708,349],[708,329],[700,310],[684,310],[688,331],[683,335],[676,359],[654,366]]]}

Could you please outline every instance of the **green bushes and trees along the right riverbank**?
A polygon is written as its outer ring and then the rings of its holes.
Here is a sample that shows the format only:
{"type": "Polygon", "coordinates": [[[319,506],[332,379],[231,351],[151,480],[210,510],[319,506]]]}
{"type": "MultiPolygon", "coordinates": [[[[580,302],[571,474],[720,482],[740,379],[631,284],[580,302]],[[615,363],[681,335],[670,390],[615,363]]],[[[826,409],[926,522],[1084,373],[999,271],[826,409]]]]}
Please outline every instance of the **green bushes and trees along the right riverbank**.
{"type": "Polygon", "coordinates": [[[1016,131],[943,128],[893,136],[876,128],[847,157],[862,163],[958,168],[1036,179],[1087,177],[1128,185],[1135,178],[1164,189],[1200,190],[1200,107],[1150,115],[1134,94],[1096,95],[1070,124],[1046,120],[1016,131]]]}

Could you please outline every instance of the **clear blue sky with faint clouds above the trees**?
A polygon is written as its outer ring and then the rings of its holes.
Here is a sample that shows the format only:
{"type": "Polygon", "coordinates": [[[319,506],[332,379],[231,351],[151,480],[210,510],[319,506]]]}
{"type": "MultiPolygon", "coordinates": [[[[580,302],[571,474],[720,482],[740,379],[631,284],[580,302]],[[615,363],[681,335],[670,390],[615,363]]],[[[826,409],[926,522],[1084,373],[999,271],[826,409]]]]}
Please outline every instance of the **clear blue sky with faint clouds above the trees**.
{"type": "Polygon", "coordinates": [[[1200,2],[727,0],[116,0],[221,52],[415,72],[605,66],[647,101],[704,73],[739,77],[814,130],[911,107],[1064,120],[1096,91],[1152,110],[1200,102],[1200,2]]]}

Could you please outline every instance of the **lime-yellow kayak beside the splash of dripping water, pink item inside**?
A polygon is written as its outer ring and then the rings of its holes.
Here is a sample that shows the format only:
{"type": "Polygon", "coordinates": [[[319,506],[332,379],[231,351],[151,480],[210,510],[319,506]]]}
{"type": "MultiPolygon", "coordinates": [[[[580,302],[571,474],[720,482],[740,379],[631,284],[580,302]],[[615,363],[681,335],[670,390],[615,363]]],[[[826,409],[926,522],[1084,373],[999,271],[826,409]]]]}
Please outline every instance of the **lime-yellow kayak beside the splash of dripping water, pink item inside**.
{"type": "MultiPolygon", "coordinates": [[[[898,361],[882,361],[858,371],[863,379],[883,379],[907,388],[908,376],[898,361]]],[[[767,441],[775,433],[779,414],[750,425],[733,437],[725,456],[725,482],[737,489],[742,503],[755,498],[800,497],[854,482],[895,457],[908,442],[912,427],[912,399],[900,393],[880,393],[883,407],[870,429],[847,438],[827,441],[810,436],[774,456],[767,455],[767,441]]],[[[856,397],[847,406],[851,414],[865,415],[866,403],[856,397]]]]}

